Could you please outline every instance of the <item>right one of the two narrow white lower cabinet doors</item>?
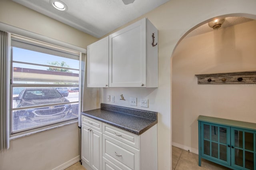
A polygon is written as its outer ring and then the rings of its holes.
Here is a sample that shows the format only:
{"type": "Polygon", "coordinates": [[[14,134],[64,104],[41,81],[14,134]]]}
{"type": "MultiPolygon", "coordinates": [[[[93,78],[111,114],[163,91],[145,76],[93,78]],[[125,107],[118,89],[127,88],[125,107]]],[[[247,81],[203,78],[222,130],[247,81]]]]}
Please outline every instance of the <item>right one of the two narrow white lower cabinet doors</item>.
{"type": "Polygon", "coordinates": [[[91,167],[101,170],[102,165],[102,132],[91,130],[91,167]]]}

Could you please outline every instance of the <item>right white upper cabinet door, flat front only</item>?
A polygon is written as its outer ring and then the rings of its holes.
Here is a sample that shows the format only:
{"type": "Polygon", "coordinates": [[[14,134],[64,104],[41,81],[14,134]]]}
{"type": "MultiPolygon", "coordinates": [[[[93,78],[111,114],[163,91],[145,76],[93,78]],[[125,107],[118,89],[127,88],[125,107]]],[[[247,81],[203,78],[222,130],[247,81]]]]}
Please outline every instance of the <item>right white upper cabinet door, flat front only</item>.
{"type": "Polygon", "coordinates": [[[111,87],[146,86],[146,19],[112,35],[109,43],[111,87]]]}

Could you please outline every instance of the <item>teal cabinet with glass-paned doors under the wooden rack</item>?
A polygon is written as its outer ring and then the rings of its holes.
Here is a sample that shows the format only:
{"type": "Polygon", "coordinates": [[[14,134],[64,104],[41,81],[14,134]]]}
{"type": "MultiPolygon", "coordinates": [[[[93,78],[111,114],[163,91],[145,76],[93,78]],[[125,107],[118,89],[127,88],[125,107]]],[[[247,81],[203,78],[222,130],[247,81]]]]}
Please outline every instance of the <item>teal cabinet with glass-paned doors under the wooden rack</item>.
{"type": "Polygon", "coordinates": [[[198,117],[201,159],[234,170],[256,170],[256,124],[214,117],[198,117]]]}

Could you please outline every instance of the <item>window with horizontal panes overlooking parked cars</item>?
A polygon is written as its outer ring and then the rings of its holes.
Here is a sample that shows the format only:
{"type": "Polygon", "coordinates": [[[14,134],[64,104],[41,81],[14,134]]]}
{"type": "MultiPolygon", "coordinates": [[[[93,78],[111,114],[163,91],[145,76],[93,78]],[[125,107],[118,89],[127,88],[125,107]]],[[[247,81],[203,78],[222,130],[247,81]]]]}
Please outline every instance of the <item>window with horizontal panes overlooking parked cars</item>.
{"type": "Polygon", "coordinates": [[[79,52],[12,35],[10,60],[11,134],[78,118],[79,52]]]}

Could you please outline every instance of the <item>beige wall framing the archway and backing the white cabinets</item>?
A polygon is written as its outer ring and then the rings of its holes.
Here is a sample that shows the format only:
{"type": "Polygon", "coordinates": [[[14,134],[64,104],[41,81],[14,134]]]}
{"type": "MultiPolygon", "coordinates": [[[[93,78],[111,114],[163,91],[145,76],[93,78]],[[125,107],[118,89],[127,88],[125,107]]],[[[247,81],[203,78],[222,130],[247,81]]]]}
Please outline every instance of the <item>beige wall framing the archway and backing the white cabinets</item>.
{"type": "MultiPolygon", "coordinates": [[[[244,3],[244,0],[170,0],[166,4],[128,23],[131,24],[147,17],[158,29],[159,86],[158,88],[102,88],[100,89],[99,103],[132,107],[128,104],[128,101],[122,102],[119,100],[121,94],[126,99],[130,97],[137,97],[138,101],[142,97],[149,99],[149,108],[147,110],[158,112],[159,170],[171,169],[171,131],[172,123],[175,123],[171,120],[171,105],[174,105],[171,103],[171,56],[176,45],[189,30],[200,23],[210,21],[211,18],[216,16],[232,14],[256,19],[255,8],[256,1],[254,0],[247,0],[246,3],[244,3]],[[107,102],[107,95],[114,95],[116,103],[107,102]]],[[[144,109],[140,106],[134,108],[144,109]]],[[[190,118],[184,119],[188,120],[190,118]]],[[[182,122],[180,126],[181,128],[177,132],[180,132],[182,136],[184,135],[183,126],[186,125],[182,122]]],[[[189,144],[188,146],[192,145],[189,144]]]]}

